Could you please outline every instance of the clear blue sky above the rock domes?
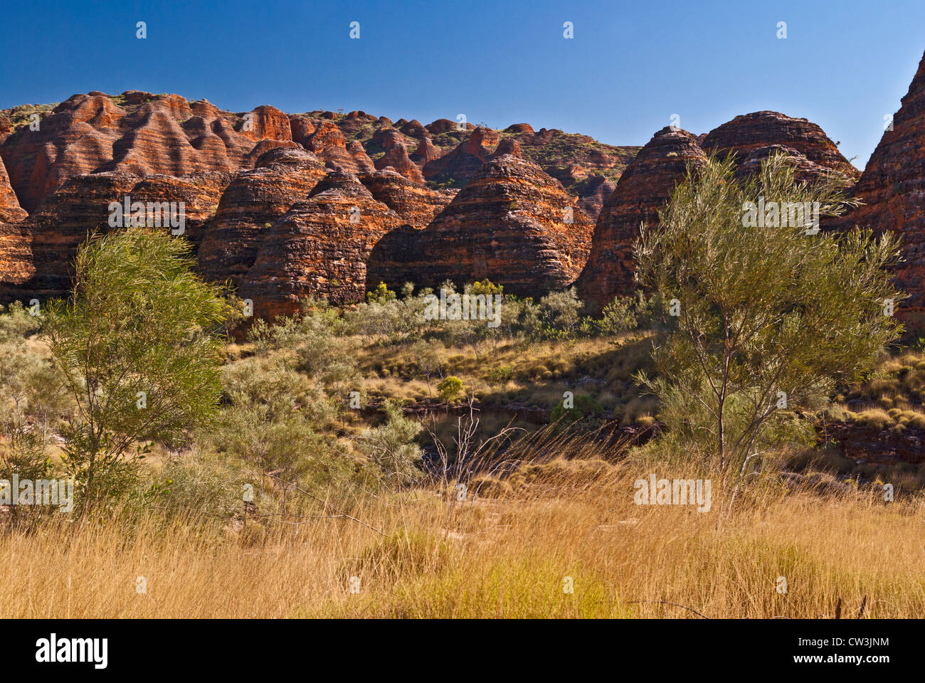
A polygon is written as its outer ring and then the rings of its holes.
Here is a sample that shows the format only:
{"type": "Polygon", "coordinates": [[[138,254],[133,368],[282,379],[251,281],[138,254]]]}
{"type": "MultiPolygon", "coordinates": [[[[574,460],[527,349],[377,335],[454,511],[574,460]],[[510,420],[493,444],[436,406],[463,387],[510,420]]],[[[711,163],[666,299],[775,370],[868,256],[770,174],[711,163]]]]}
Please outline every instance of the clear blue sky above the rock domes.
{"type": "Polygon", "coordinates": [[[819,123],[860,168],[925,51],[922,0],[30,0],[2,17],[0,108],[135,88],[611,144],[646,143],[672,114],[700,133],[773,109],[819,123]]]}

